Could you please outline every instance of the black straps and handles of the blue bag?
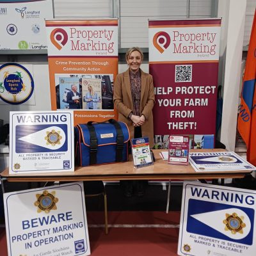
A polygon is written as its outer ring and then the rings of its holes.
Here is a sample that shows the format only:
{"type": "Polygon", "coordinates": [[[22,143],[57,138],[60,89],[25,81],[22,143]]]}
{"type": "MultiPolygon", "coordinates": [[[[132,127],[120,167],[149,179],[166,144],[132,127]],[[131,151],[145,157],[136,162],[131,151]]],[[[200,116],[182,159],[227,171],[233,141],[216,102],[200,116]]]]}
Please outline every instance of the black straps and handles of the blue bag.
{"type": "Polygon", "coordinates": [[[122,161],[122,152],[124,149],[124,133],[122,131],[121,125],[115,119],[109,119],[104,122],[87,122],[87,127],[90,133],[90,164],[97,163],[97,150],[98,150],[98,141],[96,136],[95,127],[93,127],[93,123],[95,124],[113,124],[116,129],[116,162],[122,161]],[[93,157],[93,159],[92,159],[93,157]]]}

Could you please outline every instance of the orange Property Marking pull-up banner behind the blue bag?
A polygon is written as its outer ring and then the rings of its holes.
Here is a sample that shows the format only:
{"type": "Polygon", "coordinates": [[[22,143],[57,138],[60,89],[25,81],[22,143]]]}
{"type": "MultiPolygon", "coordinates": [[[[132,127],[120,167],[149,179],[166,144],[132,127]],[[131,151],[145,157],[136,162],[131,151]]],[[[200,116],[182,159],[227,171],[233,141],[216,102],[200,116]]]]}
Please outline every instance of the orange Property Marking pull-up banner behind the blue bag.
{"type": "Polygon", "coordinates": [[[46,20],[52,109],[72,109],[74,125],[117,119],[118,20],[46,20]]]}

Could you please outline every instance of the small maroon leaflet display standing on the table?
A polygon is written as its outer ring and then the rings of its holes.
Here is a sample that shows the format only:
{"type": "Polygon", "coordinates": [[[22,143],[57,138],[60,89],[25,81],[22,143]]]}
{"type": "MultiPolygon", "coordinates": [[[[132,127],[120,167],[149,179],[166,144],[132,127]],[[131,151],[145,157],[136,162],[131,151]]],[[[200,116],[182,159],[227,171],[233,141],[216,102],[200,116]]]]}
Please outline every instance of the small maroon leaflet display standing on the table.
{"type": "Polygon", "coordinates": [[[189,136],[170,135],[168,163],[188,165],[189,136]]]}

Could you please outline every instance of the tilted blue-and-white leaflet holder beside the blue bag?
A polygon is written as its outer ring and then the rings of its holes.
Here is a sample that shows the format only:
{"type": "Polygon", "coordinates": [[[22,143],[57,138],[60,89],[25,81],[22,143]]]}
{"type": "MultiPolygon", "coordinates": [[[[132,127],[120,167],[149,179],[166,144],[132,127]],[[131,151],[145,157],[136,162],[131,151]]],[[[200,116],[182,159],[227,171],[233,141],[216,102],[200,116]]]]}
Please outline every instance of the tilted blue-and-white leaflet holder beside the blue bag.
{"type": "Polygon", "coordinates": [[[131,148],[134,167],[140,168],[153,164],[148,137],[132,139],[131,148]]]}

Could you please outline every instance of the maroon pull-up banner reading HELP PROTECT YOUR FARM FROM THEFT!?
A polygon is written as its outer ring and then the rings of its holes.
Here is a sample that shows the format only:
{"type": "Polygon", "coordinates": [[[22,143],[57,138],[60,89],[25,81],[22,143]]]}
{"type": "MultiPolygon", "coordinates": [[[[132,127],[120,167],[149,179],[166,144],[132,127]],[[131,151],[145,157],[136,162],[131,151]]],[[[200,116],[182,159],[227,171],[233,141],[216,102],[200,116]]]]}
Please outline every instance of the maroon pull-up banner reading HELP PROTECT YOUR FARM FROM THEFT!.
{"type": "Polygon", "coordinates": [[[148,25],[155,147],[167,148],[170,134],[189,134],[190,148],[213,148],[221,20],[149,20],[148,25]]]}

